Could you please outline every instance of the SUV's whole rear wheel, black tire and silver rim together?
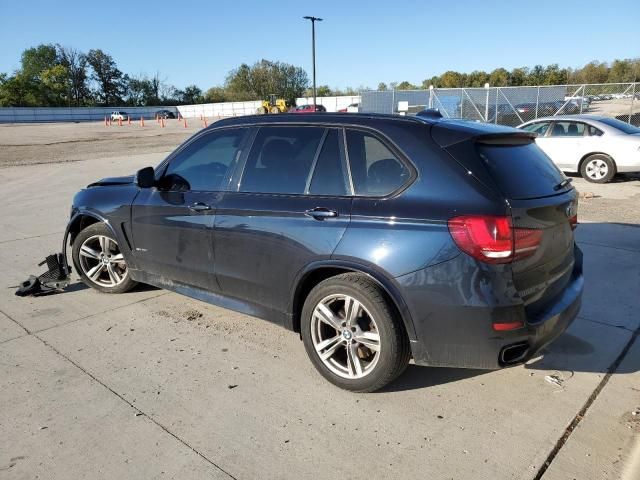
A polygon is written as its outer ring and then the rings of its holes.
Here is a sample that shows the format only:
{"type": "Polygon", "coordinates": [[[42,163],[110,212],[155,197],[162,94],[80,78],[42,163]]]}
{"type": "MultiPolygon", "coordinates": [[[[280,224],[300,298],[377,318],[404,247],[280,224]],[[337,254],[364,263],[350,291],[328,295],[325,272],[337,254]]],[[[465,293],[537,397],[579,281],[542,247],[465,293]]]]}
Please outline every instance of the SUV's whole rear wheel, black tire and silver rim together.
{"type": "Polygon", "coordinates": [[[316,369],[331,383],[373,392],[409,363],[409,342],[381,289],[364,275],[320,282],[302,309],[301,333],[316,369]]]}

